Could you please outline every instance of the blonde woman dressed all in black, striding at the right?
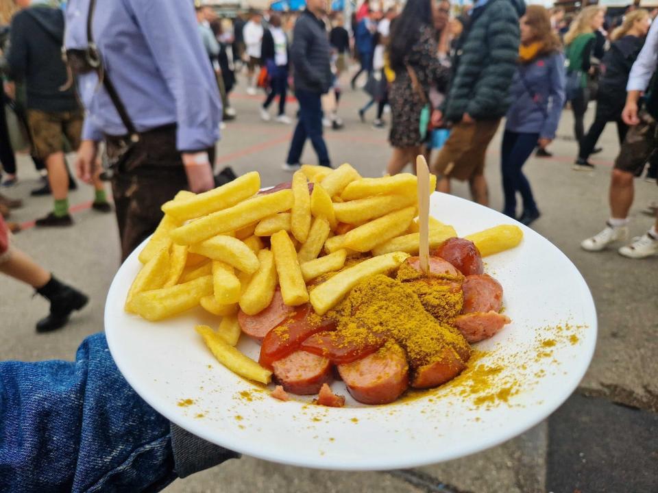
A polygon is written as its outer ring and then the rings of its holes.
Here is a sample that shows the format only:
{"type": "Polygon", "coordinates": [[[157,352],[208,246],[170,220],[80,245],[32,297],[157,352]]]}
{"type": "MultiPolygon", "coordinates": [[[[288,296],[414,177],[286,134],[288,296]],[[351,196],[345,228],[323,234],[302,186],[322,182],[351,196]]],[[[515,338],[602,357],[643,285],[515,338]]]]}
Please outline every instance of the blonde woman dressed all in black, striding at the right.
{"type": "Polygon", "coordinates": [[[594,116],[594,122],[589,127],[589,131],[580,142],[575,166],[594,168],[594,164],[587,160],[609,121],[617,123],[619,144],[624,142],[629,127],[622,120],[622,110],[624,110],[626,98],[622,99],[620,96],[626,94],[626,84],[629,81],[631,67],[642,49],[650,24],[649,12],[638,9],[627,14],[622,25],[613,31],[612,45],[601,60],[602,74],[598,79],[596,116],[594,116]]]}

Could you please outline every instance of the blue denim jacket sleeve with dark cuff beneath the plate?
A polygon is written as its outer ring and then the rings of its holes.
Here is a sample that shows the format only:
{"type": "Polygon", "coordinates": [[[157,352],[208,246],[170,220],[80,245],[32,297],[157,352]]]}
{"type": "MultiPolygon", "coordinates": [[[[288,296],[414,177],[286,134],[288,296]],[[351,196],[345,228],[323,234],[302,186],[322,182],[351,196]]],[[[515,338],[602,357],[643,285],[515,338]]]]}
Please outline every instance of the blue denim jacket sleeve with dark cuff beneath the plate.
{"type": "Polygon", "coordinates": [[[75,362],[0,363],[0,492],[156,492],[231,457],[149,407],[102,333],[75,362]]]}

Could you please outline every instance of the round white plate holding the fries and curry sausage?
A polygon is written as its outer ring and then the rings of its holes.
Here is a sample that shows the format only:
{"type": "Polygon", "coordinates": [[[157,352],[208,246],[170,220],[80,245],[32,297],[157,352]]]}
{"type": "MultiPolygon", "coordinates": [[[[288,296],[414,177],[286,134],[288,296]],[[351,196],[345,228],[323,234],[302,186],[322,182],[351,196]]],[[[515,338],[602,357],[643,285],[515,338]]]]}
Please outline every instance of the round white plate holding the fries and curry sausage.
{"type": "MultiPolygon", "coordinates": [[[[432,194],[430,212],[460,236],[514,223],[438,193],[432,194]]],[[[478,344],[487,353],[470,366],[500,368],[488,377],[493,388],[478,387],[467,373],[391,405],[359,405],[349,396],[341,409],[278,401],[212,357],[194,325],[217,325],[217,319],[202,309],[159,323],[123,312],[140,267],[139,249],[121,266],[108,294],[110,351],[130,385],[158,412],[247,455],[337,470],[409,468],[463,457],[544,420],[576,388],[594,353],[596,311],[583,277],[553,244],[522,228],[519,247],[485,259],[485,271],[502,283],[505,314],[513,320],[478,344]],[[192,403],[184,405],[186,399],[192,403]]],[[[257,358],[258,346],[245,339],[239,348],[257,358]]],[[[332,389],[347,395],[342,382],[332,389]]]]}

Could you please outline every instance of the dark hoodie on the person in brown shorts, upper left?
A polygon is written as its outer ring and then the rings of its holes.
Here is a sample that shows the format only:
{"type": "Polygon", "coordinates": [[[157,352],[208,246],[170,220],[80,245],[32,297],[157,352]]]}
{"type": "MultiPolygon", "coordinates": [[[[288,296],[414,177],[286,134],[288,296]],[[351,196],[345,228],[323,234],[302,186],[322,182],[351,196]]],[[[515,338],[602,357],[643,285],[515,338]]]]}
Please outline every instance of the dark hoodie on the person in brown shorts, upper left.
{"type": "Polygon", "coordinates": [[[79,110],[73,87],[66,91],[66,66],[62,62],[64,13],[38,5],[22,10],[12,19],[7,62],[10,76],[23,80],[27,108],[45,112],[79,110]]]}

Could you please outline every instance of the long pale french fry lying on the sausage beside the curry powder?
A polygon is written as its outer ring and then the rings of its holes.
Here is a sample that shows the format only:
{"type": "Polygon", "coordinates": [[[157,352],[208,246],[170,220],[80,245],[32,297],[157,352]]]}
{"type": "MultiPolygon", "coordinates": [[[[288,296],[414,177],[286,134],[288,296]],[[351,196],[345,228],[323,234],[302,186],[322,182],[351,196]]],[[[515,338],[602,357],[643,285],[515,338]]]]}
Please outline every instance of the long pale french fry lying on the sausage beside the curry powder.
{"type": "Polygon", "coordinates": [[[387,253],[341,270],[310,292],[310,304],[313,305],[318,315],[324,315],[361,280],[372,275],[390,272],[400,266],[406,257],[409,257],[409,254],[404,252],[387,253]]]}

